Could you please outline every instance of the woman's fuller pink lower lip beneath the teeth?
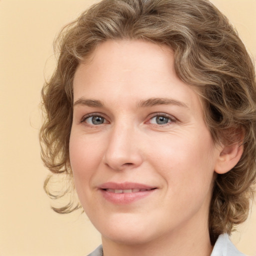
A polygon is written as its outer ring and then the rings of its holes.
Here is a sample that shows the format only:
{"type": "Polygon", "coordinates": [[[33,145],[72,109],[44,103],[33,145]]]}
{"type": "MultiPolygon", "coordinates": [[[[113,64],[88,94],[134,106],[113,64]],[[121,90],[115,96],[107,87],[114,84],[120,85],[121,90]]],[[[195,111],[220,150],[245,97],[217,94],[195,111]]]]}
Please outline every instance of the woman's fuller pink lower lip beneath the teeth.
{"type": "Polygon", "coordinates": [[[114,193],[100,189],[103,197],[114,204],[128,204],[150,195],[155,189],[133,193],[114,193]]]}

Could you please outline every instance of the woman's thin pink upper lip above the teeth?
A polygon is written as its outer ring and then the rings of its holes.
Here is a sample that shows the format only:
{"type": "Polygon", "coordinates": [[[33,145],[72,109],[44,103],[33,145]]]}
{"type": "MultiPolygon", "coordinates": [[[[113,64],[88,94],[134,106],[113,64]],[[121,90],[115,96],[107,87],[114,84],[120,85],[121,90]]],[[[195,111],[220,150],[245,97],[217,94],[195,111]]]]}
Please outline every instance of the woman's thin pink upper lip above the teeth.
{"type": "Polygon", "coordinates": [[[134,183],[134,182],[123,182],[123,183],[116,183],[116,182],[105,182],[99,185],[99,189],[153,189],[156,188],[155,186],[150,186],[141,183],[134,183]]]}

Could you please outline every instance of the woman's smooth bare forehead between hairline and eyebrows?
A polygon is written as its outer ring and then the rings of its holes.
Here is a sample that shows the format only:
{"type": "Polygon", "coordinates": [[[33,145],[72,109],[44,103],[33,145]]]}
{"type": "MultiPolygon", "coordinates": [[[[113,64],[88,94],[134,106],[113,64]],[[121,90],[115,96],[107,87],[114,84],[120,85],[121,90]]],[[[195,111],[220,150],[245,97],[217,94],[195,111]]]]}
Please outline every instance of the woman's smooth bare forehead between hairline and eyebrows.
{"type": "Polygon", "coordinates": [[[168,97],[198,104],[197,93],[175,73],[173,51],[141,40],[99,44],[89,61],[78,65],[73,86],[74,101],[81,96],[122,103],[168,97]]]}

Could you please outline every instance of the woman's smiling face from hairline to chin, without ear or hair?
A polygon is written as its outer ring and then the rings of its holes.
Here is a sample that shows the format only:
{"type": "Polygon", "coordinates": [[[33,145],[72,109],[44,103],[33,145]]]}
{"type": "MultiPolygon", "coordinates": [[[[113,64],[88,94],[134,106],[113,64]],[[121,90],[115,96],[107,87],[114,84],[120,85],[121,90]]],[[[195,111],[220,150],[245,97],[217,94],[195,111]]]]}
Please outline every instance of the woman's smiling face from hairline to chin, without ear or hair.
{"type": "Polygon", "coordinates": [[[103,239],[145,243],[207,230],[219,150],[172,51],[103,42],[77,67],[73,93],[74,183],[103,239]]]}

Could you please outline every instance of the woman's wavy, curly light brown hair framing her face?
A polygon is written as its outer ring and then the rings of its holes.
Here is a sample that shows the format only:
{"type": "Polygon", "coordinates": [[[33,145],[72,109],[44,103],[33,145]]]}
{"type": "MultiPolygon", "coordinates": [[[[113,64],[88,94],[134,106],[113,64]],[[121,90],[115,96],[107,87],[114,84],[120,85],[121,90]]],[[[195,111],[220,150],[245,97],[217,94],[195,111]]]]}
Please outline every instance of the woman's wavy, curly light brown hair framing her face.
{"type": "MultiPolygon", "coordinates": [[[[217,174],[209,210],[212,244],[230,233],[249,211],[255,182],[256,85],[253,62],[227,18],[208,0],[102,0],[60,32],[55,51],[57,66],[42,88],[45,120],[40,130],[41,155],[53,173],[66,174],[64,191],[73,191],[69,163],[72,122],[72,81],[80,62],[107,39],[141,39],[174,51],[178,77],[196,87],[203,99],[204,118],[215,143],[232,143],[243,132],[243,154],[230,171],[217,174]]],[[[72,200],[59,213],[81,207],[72,200]]]]}

